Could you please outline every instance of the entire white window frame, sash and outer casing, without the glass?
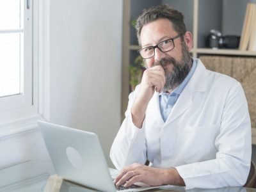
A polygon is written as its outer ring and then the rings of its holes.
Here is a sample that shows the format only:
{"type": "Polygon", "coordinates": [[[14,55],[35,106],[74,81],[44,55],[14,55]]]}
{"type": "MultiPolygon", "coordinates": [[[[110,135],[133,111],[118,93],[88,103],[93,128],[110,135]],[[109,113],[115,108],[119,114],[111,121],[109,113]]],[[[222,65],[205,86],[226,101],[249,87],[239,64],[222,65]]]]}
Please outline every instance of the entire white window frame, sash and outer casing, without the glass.
{"type": "MultiPolygon", "coordinates": [[[[0,133],[15,132],[20,129],[35,129],[37,120],[49,120],[50,118],[50,73],[49,73],[49,12],[50,0],[24,0],[24,14],[26,14],[26,3],[29,3],[30,15],[24,18],[31,19],[31,67],[24,68],[24,72],[31,73],[31,93],[24,90],[24,95],[31,98],[21,99],[21,105],[3,110],[0,105],[0,133]],[[33,19],[32,19],[33,18],[33,19]]],[[[28,38],[28,37],[26,37],[28,38]]],[[[26,81],[26,79],[25,79],[26,81]]],[[[26,89],[26,87],[25,87],[26,89]]],[[[13,98],[20,95],[12,95],[13,98]]],[[[5,97],[0,98],[5,100],[5,97]]],[[[1,104],[1,102],[0,102],[1,104]]],[[[1,136],[0,136],[1,138],[1,136]]]]}

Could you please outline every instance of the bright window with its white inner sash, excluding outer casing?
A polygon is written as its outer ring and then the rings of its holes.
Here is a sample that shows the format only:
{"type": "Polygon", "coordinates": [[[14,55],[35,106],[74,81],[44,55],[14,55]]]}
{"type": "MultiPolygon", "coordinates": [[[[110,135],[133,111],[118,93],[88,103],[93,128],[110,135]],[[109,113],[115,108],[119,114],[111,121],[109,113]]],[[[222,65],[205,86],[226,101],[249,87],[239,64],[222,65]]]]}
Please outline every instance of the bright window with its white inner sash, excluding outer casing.
{"type": "Polygon", "coordinates": [[[0,122],[35,113],[32,0],[0,0],[0,122]]]}

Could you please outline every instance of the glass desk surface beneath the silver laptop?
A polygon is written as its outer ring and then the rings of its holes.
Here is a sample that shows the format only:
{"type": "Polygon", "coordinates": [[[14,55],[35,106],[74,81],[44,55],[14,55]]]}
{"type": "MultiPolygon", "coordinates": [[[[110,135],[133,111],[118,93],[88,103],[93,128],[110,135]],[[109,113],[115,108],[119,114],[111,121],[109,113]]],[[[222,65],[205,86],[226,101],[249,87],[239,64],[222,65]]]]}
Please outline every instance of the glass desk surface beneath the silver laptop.
{"type": "MultiPolygon", "coordinates": [[[[46,163],[47,164],[47,163],[46,163]]],[[[60,186],[56,190],[52,188],[45,188],[49,184],[49,176],[52,175],[52,170],[48,170],[48,166],[45,162],[35,163],[26,162],[17,164],[10,168],[4,168],[0,170],[0,191],[10,192],[92,192],[92,189],[86,189],[76,184],[72,184],[68,181],[60,182],[60,186]],[[38,172],[40,168],[41,172],[38,172]],[[48,182],[47,182],[48,181],[48,182]]],[[[54,174],[54,173],[53,173],[54,174]]],[[[52,186],[56,186],[56,183],[52,183],[52,186]]],[[[189,192],[256,192],[256,189],[250,188],[220,188],[220,189],[190,189],[186,190],[184,187],[166,186],[164,188],[150,189],[148,191],[160,192],[160,191],[189,191],[189,192]]]]}

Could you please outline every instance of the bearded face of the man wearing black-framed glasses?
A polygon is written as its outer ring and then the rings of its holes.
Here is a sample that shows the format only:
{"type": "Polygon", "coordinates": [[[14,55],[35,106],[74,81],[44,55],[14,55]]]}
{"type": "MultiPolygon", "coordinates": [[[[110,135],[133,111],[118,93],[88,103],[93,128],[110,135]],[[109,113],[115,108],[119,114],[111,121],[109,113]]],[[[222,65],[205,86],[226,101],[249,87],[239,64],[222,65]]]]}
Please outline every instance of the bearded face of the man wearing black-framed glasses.
{"type": "MultiPolygon", "coordinates": [[[[177,36],[177,32],[172,27],[172,22],[167,19],[159,19],[143,26],[141,29],[141,46],[142,48],[150,45],[156,45],[163,40],[177,36]]],[[[154,67],[161,65],[164,69],[166,83],[164,84],[164,91],[172,90],[180,84],[188,75],[190,70],[189,47],[182,38],[173,40],[174,49],[168,52],[161,52],[155,49],[155,56],[145,60],[147,67],[154,67]]]]}

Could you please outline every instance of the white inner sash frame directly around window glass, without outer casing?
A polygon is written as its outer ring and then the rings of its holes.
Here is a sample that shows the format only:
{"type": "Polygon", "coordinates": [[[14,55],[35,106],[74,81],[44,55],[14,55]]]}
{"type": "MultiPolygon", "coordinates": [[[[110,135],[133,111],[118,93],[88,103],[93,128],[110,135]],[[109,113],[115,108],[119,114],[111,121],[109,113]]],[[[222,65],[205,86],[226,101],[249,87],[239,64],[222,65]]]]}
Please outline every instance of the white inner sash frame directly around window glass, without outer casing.
{"type": "MultiPolygon", "coordinates": [[[[24,0],[23,0],[24,1],[24,0]]],[[[0,122],[10,121],[15,118],[34,113],[33,108],[33,10],[27,9],[29,1],[21,2],[23,6],[24,33],[21,40],[24,39],[24,56],[20,56],[23,60],[23,66],[20,66],[20,80],[23,81],[21,93],[17,95],[7,95],[0,97],[0,122]],[[25,43],[26,42],[26,43],[25,43]]],[[[32,1],[30,2],[32,3],[32,1]]]]}

